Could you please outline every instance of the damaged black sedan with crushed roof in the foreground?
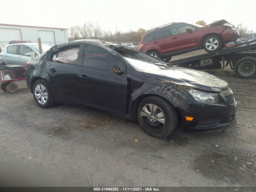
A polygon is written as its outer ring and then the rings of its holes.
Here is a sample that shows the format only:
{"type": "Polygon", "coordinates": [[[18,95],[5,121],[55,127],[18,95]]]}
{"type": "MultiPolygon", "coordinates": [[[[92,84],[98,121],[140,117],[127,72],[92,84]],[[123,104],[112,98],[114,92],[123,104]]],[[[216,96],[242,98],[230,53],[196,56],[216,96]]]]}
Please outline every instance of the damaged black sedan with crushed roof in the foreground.
{"type": "Polygon", "coordinates": [[[227,82],[101,40],[53,46],[29,61],[26,82],[42,108],[82,104],[138,120],[156,138],[170,136],[178,126],[223,129],[236,116],[227,82]]]}

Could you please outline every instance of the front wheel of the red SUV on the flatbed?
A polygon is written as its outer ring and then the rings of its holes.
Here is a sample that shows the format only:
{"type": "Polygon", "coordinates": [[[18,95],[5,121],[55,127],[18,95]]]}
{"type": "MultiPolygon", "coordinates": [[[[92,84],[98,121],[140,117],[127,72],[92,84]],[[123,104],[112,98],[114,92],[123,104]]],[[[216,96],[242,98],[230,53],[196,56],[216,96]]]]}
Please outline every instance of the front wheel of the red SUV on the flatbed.
{"type": "Polygon", "coordinates": [[[222,41],[218,36],[211,35],[205,38],[203,47],[207,52],[218,51],[222,48],[222,41]]]}

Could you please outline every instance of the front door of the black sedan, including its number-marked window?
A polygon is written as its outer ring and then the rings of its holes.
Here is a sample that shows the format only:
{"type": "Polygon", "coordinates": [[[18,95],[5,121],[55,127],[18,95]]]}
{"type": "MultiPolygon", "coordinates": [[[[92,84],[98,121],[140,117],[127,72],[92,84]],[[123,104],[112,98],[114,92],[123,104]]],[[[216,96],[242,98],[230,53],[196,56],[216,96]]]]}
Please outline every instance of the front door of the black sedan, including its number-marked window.
{"type": "Polygon", "coordinates": [[[126,66],[111,52],[100,46],[84,45],[79,75],[81,102],[87,106],[126,114],[126,66]],[[123,73],[116,74],[113,67],[120,68],[123,73]]]}

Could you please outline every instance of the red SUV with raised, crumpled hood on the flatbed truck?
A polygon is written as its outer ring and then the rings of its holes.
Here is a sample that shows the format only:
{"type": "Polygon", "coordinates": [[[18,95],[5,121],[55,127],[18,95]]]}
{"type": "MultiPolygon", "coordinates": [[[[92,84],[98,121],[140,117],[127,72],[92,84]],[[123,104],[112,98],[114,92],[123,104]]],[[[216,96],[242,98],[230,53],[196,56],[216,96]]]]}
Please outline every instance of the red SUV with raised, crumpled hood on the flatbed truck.
{"type": "Polygon", "coordinates": [[[238,38],[238,32],[226,20],[219,20],[207,26],[170,23],[144,34],[138,50],[168,62],[172,56],[192,50],[220,50],[225,43],[238,38]]]}

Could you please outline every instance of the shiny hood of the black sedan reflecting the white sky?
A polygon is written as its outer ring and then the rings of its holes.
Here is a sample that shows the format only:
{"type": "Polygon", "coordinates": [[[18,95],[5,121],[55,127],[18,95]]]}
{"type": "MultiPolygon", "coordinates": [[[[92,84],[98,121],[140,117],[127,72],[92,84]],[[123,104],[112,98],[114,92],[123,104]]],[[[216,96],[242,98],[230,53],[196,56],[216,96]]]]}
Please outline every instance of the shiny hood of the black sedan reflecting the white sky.
{"type": "Polygon", "coordinates": [[[143,74],[148,78],[170,81],[210,92],[221,92],[221,88],[228,86],[226,81],[216,76],[182,67],[171,67],[154,71],[147,70],[143,71],[143,74]]]}

